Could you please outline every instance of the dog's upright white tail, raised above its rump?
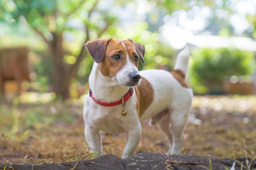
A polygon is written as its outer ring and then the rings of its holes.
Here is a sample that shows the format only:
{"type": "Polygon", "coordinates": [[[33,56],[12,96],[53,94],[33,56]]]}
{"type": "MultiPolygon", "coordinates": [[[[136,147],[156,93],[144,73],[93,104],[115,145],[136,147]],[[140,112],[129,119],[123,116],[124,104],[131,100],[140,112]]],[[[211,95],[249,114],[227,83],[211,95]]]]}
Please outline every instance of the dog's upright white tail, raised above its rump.
{"type": "Polygon", "coordinates": [[[183,74],[184,78],[186,79],[186,75],[188,72],[188,61],[189,61],[189,47],[186,45],[178,54],[176,64],[174,66],[174,70],[183,74]]]}

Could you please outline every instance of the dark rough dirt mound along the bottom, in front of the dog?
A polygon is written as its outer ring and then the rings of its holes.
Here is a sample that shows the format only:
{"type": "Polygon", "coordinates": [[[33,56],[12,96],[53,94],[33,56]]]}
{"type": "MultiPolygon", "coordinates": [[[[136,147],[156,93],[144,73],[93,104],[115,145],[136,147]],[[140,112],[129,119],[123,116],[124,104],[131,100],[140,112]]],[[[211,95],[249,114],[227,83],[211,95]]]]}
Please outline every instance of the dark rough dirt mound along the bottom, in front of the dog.
{"type": "MultiPolygon", "coordinates": [[[[212,169],[228,169],[231,168],[234,160],[232,159],[218,159],[210,157],[212,169]]],[[[248,159],[250,163],[251,159],[248,159]]],[[[236,159],[235,169],[241,169],[240,163],[244,163],[246,158],[236,159]]],[[[5,165],[0,166],[4,169],[5,165]]],[[[61,164],[45,163],[40,165],[32,164],[12,164],[14,169],[34,170],[37,169],[206,169],[210,168],[209,157],[183,155],[183,154],[169,154],[169,153],[138,153],[130,158],[120,159],[115,155],[104,155],[99,158],[80,161],[80,162],[63,162],[61,164]]],[[[256,168],[256,162],[253,161],[250,167],[256,168]]],[[[6,166],[6,169],[9,169],[6,166]]]]}

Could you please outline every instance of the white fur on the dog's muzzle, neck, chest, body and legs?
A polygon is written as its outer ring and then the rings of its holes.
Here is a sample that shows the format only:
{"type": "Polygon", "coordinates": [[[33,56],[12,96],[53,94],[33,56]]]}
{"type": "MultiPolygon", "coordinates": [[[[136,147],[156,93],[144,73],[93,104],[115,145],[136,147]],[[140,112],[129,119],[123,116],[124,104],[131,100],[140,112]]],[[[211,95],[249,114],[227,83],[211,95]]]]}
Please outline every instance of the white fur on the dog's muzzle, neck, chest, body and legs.
{"type": "MultiPolygon", "coordinates": [[[[129,87],[122,86],[121,84],[125,82],[126,77],[130,76],[129,73],[131,73],[131,70],[137,71],[137,68],[131,63],[128,56],[127,58],[128,60],[125,66],[117,73],[114,79],[113,77],[103,76],[97,67],[98,64],[93,64],[89,84],[96,99],[103,102],[114,102],[120,100],[127,93],[129,87]]],[[[183,66],[187,67],[185,65],[183,66]]],[[[183,69],[181,65],[179,69],[183,69]]],[[[133,96],[125,103],[126,116],[121,114],[123,110],[122,104],[113,107],[104,107],[97,104],[89,95],[86,97],[83,109],[85,122],[84,134],[89,147],[96,152],[102,152],[100,135],[100,130],[102,130],[112,134],[116,132],[126,133],[126,144],[122,158],[132,156],[141,139],[140,122],[151,118],[165,109],[169,109],[171,112],[159,122],[158,126],[168,137],[170,152],[180,153],[183,133],[188,122],[193,99],[192,90],[183,87],[172,74],[164,70],[143,70],[139,73],[151,83],[154,90],[153,103],[146,109],[140,119],[136,110],[137,99],[135,90],[133,96]]],[[[142,86],[144,83],[142,81],[142,86]]]]}

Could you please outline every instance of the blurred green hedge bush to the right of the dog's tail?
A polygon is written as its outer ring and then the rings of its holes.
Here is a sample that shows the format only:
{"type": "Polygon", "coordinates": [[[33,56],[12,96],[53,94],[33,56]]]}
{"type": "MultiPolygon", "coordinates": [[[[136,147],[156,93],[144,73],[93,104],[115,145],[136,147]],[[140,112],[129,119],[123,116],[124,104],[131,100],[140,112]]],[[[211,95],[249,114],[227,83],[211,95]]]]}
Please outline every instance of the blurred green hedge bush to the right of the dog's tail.
{"type": "Polygon", "coordinates": [[[254,73],[254,54],[238,49],[196,49],[192,53],[190,84],[194,93],[221,92],[226,76],[254,73]]]}

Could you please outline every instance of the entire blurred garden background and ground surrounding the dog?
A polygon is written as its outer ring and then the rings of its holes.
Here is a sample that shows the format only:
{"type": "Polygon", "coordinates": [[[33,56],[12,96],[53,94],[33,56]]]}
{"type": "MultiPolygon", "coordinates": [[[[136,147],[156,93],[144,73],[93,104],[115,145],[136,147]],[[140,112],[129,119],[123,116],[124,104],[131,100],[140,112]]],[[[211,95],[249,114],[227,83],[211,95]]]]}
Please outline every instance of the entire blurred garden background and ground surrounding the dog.
{"type": "MultiPolygon", "coordinates": [[[[189,45],[195,98],[183,153],[256,149],[256,1],[0,0],[1,157],[60,162],[88,153],[82,105],[94,61],[84,44],[109,37],[145,46],[139,70],[172,71],[189,45]]],[[[167,152],[164,134],[143,126],[136,152],[167,152]]],[[[115,137],[114,154],[124,143],[115,137]]]]}

